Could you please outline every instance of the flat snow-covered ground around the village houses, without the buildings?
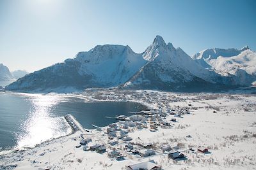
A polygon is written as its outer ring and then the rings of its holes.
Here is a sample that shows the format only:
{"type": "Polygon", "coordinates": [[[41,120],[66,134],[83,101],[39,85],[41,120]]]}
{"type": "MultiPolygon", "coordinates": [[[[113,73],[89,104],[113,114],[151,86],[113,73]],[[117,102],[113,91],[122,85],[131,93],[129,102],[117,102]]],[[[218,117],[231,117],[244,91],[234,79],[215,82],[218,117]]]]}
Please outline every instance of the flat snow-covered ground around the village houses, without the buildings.
{"type": "MultiPolygon", "coordinates": [[[[92,130],[83,137],[92,138],[93,144],[102,144],[109,150],[118,150],[124,160],[108,157],[108,153],[83,151],[76,148],[81,141],[81,131],[47,141],[24,151],[0,155],[0,169],[125,169],[125,165],[155,160],[162,169],[256,169],[256,97],[255,94],[175,94],[152,90],[97,90],[73,96],[91,101],[136,101],[145,104],[158,116],[147,118],[146,127],[122,129],[132,138],[132,143],[152,143],[156,155],[141,157],[124,149],[125,141],[108,139],[107,128],[92,130]],[[170,113],[185,113],[174,117],[170,113]],[[190,114],[186,114],[186,113],[190,114]],[[166,117],[164,114],[167,113],[166,117]],[[176,118],[177,122],[170,121],[176,118]],[[151,123],[150,123],[151,122],[151,123]],[[150,131],[156,123],[157,131],[150,131]],[[166,127],[161,122],[169,122],[166,127]],[[159,123],[159,125],[157,125],[159,123]],[[187,136],[191,136],[188,138],[187,136]],[[118,141],[111,146],[108,141],[118,141]],[[170,145],[186,155],[185,160],[172,160],[159,146],[170,145]],[[209,153],[197,152],[198,146],[209,153]],[[189,150],[192,148],[195,151],[189,150]]],[[[79,120],[78,120],[79,122],[79,120]]],[[[119,134],[119,131],[116,132],[119,134]]],[[[140,150],[140,146],[133,145],[140,150]]]]}

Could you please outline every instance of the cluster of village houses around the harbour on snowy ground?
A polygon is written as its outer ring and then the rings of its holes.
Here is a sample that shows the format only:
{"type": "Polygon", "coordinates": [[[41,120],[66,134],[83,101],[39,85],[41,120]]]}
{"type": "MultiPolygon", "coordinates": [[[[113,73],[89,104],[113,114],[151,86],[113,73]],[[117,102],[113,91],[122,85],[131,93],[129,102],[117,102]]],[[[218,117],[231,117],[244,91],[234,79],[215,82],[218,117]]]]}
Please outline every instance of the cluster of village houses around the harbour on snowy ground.
{"type": "MultiPolygon", "coordinates": [[[[191,104],[188,104],[191,107],[191,104]]],[[[154,155],[168,155],[172,160],[188,160],[184,153],[180,152],[179,145],[170,146],[168,143],[147,143],[141,141],[140,138],[132,139],[129,137],[129,132],[138,131],[142,129],[148,129],[150,132],[156,132],[160,129],[171,129],[175,123],[178,123],[177,118],[182,118],[185,115],[189,115],[188,108],[175,108],[167,111],[148,110],[134,113],[130,117],[124,115],[116,116],[117,123],[109,124],[108,127],[97,127],[96,134],[93,138],[88,138],[87,134],[81,134],[81,141],[76,148],[82,147],[83,150],[93,151],[100,154],[106,153],[109,159],[116,159],[118,161],[124,159],[138,159],[152,157],[154,155]],[[167,118],[166,118],[167,117],[167,118]],[[173,118],[170,118],[173,117],[173,118]]],[[[71,116],[71,115],[70,115],[71,116]]],[[[77,130],[76,124],[74,130],[77,130]]],[[[191,135],[186,138],[192,138],[191,135]]],[[[211,153],[203,146],[198,148],[189,148],[191,152],[200,152],[203,154],[211,153]],[[195,151],[196,150],[196,151],[195,151]]],[[[138,164],[129,165],[126,169],[145,169],[150,164],[150,169],[161,169],[154,160],[148,160],[147,162],[141,162],[138,164]]]]}

